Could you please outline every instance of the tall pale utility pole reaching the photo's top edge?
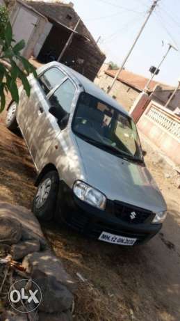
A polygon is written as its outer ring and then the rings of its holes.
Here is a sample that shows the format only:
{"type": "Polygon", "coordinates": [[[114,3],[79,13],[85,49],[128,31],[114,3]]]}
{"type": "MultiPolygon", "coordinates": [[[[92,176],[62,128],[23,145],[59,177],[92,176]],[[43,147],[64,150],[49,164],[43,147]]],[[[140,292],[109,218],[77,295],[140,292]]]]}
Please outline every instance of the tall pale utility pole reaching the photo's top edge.
{"type": "Polygon", "coordinates": [[[133,51],[133,48],[135,47],[136,42],[138,42],[138,39],[140,38],[140,35],[141,35],[142,31],[145,29],[145,25],[147,24],[147,22],[148,22],[148,20],[149,20],[149,17],[151,17],[154,9],[156,8],[156,5],[157,5],[158,1],[160,1],[160,0],[154,0],[151,8],[149,9],[147,18],[145,19],[145,22],[142,24],[142,26],[141,26],[141,28],[140,28],[140,31],[138,32],[138,35],[136,36],[136,39],[135,39],[134,42],[133,42],[133,45],[132,45],[131,49],[129,50],[128,54],[127,54],[126,57],[124,58],[124,61],[122,62],[122,65],[121,65],[120,69],[117,71],[117,74],[115,75],[115,78],[113,79],[111,86],[108,87],[107,93],[110,93],[110,92],[111,92],[111,89],[113,88],[113,86],[114,86],[114,84],[115,84],[115,81],[116,81],[117,78],[119,77],[120,72],[122,72],[126,61],[128,60],[131,52],[133,51]]]}

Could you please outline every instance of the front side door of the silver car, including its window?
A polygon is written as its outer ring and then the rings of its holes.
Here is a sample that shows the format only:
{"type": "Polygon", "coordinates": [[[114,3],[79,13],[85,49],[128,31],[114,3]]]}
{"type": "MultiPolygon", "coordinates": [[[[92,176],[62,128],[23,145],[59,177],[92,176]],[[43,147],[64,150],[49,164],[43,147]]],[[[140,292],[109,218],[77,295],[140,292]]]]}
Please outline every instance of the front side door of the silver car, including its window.
{"type": "Polygon", "coordinates": [[[33,139],[31,152],[37,167],[40,167],[44,155],[60,134],[60,120],[68,116],[76,93],[76,86],[70,79],[65,79],[63,83],[51,91],[46,104],[41,106],[42,111],[38,112],[38,117],[34,119],[33,139]],[[58,109],[58,119],[51,114],[51,107],[58,109]]]}

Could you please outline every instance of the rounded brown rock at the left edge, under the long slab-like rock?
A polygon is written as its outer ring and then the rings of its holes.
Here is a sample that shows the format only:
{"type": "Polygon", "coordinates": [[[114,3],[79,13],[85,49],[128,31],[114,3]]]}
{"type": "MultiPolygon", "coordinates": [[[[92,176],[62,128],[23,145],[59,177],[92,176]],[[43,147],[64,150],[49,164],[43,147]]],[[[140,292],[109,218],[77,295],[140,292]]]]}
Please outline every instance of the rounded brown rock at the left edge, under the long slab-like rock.
{"type": "MultiPolygon", "coordinates": [[[[0,209],[1,211],[1,209],[0,209]]],[[[22,225],[12,217],[0,216],[0,243],[16,244],[22,237],[22,225]]]]}

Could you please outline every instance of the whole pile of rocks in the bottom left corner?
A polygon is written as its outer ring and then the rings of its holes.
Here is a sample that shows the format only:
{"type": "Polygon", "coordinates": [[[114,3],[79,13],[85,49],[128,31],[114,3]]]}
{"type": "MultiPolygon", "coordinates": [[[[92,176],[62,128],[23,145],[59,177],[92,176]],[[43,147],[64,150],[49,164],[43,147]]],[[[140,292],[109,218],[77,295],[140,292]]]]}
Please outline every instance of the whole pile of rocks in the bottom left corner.
{"type": "Polygon", "coordinates": [[[0,263],[0,321],[71,321],[76,285],[49,248],[38,220],[26,208],[0,203],[0,262],[7,255],[20,269],[0,263]],[[10,306],[8,290],[19,279],[39,285],[38,311],[18,313],[10,306]]]}

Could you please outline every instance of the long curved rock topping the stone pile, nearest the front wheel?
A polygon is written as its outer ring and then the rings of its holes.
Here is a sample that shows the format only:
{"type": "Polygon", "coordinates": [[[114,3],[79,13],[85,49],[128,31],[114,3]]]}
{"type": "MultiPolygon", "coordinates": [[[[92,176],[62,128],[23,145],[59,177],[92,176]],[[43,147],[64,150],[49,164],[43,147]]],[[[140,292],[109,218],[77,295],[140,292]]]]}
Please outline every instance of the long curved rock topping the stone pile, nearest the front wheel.
{"type": "Polygon", "coordinates": [[[44,238],[38,219],[30,210],[22,206],[0,202],[1,217],[17,219],[19,224],[22,224],[22,241],[38,240],[42,249],[47,247],[47,241],[44,238]]]}

